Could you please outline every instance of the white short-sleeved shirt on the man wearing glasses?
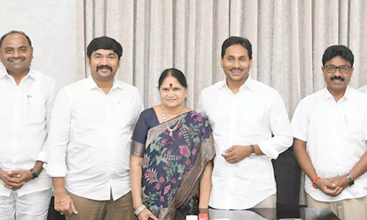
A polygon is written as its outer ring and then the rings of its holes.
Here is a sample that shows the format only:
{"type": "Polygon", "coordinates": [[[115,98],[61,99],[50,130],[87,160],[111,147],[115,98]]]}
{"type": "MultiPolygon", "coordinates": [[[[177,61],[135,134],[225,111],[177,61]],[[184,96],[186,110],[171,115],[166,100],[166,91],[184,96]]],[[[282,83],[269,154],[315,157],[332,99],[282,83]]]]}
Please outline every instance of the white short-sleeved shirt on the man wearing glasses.
{"type": "MultiPolygon", "coordinates": [[[[306,96],[293,115],[292,134],[306,143],[306,151],[317,176],[331,178],[348,173],[366,152],[367,96],[347,87],[344,96],[335,102],[324,88],[306,96]]],[[[305,190],[315,200],[333,202],[367,195],[367,173],[331,197],[312,187],[306,175],[305,190]]]]}

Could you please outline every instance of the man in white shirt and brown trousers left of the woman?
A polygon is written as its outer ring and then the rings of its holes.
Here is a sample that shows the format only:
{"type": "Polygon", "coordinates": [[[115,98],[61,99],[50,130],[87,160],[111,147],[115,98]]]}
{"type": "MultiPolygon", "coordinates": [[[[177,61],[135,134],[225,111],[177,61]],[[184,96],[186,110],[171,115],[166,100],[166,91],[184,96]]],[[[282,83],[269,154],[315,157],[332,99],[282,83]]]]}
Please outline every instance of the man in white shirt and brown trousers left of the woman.
{"type": "Polygon", "coordinates": [[[62,88],[50,128],[47,172],[55,210],[66,219],[131,220],[131,135],[142,111],[138,89],[115,79],[121,45],[110,37],[87,47],[91,77],[62,88]]]}

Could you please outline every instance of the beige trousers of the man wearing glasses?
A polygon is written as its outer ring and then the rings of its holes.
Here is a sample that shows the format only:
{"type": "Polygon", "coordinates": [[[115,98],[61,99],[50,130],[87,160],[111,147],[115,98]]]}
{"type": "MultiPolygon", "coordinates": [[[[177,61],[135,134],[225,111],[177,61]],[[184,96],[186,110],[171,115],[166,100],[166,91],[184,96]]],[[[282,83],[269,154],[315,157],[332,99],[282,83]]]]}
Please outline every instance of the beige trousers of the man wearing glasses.
{"type": "Polygon", "coordinates": [[[367,196],[337,202],[320,202],[307,194],[308,207],[328,207],[341,220],[367,220],[367,196]]]}

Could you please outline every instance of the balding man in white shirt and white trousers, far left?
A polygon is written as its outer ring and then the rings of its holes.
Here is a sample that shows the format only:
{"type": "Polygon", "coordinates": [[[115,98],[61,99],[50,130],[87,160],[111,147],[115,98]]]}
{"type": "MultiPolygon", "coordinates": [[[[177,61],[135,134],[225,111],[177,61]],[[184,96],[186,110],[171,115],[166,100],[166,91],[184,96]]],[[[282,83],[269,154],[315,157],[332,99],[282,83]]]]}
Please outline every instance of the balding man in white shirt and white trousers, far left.
{"type": "Polygon", "coordinates": [[[55,81],[30,69],[29,37],[11,31],[0,39],[0,219],[47,219],[51,179],[42,169],[55,81]]]}

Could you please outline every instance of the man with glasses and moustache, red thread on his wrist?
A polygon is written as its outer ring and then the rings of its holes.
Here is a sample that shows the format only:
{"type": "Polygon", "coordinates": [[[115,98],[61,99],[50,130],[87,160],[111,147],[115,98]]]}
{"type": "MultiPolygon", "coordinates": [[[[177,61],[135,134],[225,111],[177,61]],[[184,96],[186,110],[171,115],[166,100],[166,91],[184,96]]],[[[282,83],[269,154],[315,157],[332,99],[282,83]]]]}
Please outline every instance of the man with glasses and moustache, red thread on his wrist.
{"type": "Polygon", "coordinates": [[[308,206],[329,207],[342,220],[367,219],[367,96],[348,86],[353,61],[344,45],[328,47],[326,88],[302,99],[291,122],[308,206]]]}

